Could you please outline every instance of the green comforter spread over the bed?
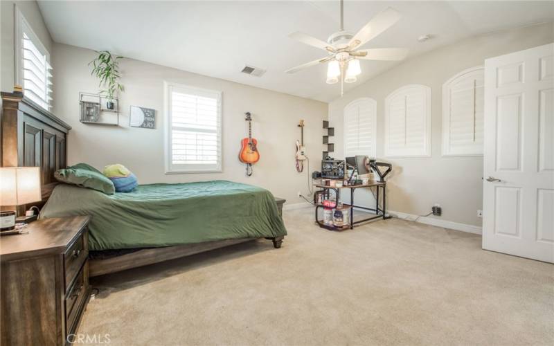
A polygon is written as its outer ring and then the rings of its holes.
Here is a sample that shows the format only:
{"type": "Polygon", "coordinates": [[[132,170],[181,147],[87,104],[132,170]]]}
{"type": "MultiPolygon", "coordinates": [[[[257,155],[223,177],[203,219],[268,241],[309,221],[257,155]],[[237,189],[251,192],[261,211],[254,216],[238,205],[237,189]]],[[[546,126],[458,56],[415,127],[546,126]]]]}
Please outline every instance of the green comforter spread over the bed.
{"type": "Polygon", "coordinates": [[[40,218],[71,215],[91,215],[91,250],[287,234],[271,192],[231,181],[139,185],[111,195],[57,185],[40,218]]]}

